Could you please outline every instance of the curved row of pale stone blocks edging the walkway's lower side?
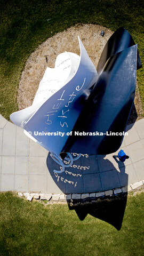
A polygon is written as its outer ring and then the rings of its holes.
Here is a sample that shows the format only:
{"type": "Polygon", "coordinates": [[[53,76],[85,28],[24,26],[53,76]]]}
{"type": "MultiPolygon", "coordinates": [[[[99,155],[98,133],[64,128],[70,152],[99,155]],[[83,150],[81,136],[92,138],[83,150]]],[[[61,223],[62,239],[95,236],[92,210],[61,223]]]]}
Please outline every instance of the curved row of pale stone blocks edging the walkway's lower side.
{"type": "MultiPolygon", "coordinates": [[[[86,201],[86,199],[94,199],[98,197],[107,197],[107,196],[115,196],[120,193],[127,193],[132,190],[135,190],[141,186],[144,185],[144,180],[135,182],[129,186],[125,186],[122,188],[116,188],[116,189],[110,189],[107,191],[102,191],[102,192],[96,192],[96,193],[85,193],[85,194],[41,194],[41,193],[22,193],[18,192],[18,196],[23,197],[25,196],[28,201],[32,201],[32,199],[37,199],[39,200],[47,200],[50,203],[59,203],[62,201],[68,202],[71,201],[86,201]]],[[[143,186],[144,187],[144,186],[143,186]]]]}

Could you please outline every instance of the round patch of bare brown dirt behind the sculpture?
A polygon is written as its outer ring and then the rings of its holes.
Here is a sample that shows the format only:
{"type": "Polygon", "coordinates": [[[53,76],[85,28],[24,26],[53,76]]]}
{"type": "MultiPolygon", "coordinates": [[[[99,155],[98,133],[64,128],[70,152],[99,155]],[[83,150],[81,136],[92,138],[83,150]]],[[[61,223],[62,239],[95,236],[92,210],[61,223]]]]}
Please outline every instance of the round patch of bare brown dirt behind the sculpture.
{"type": "MultiPolygon", "coordinates": [[[[97,68],[103,47],[112,34],[113,31],[102,26],[78,24],[55,34],[39,45],[30,55],[21,74],[18,90],[19,110],[31,106],[46,67],[54,68],[55,59],[58,54],[68,51],[80,55],[78,36],[81,38],[89,57],[97,68]],[[105,31],[103,37],[100,34],[102,30],[105,31]]],[[[133,123],[137,115],[137,119],[141,118],[142,107],[138,87],[135,93],[134,105],[137,112],[133,106],[129,123],[133,123]]]]}

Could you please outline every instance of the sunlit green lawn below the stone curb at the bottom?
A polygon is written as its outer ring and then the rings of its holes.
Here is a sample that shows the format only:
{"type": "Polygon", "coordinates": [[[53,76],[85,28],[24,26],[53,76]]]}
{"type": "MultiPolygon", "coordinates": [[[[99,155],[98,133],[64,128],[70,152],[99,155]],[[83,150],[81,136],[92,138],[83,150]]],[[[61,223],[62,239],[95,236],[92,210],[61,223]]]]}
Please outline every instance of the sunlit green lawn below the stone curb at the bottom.
{"type": "MultiPolygon", "coordinates": [[[[127,197],[122,228],[117,230],[100,220],[108,215],[106,204],[108,209],[113,206],[116,210],[120,202],[117,198],[87,208],[77,206],[76,211],[80,209],[85,217],[82,221],[67,205],[45,206],[10,192],[1,193],[0,255],[142,256],[143,199],[143,192],[127,197]],[[98,214],[99,219],[87,214],[87,209],[93,215],[98,214]]],[[[118,218],[116,214],[115,219],[118,218]]]]}

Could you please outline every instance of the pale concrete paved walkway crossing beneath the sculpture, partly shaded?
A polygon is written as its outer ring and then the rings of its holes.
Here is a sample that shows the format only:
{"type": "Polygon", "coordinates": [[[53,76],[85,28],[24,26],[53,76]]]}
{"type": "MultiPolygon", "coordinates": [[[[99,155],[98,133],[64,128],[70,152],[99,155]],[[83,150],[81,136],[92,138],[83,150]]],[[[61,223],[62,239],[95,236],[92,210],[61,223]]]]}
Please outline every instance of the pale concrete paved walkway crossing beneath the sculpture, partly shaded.
{"type": "Polygon", "coordinates": [[[44,148],[0,115],[0,191],[92,193],[144,180],[144,118],[127,126],[127,130],[129,135],[124,137],[121,149],[130,156],[129,159],[118,164],[114,154],[96,156],[93,169],[78,172],[82,174],[81,182],[77,182],[80,175],[75,183],[72,179],[77,172],[67,172],[69,176],[65,173],[64,178],[71,177],[70,183],[70,178],[64,180],[63,174],[55,177],[53,170],[47,169],[50,158],[44,148]]]}

